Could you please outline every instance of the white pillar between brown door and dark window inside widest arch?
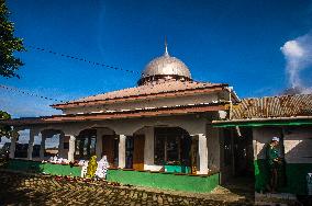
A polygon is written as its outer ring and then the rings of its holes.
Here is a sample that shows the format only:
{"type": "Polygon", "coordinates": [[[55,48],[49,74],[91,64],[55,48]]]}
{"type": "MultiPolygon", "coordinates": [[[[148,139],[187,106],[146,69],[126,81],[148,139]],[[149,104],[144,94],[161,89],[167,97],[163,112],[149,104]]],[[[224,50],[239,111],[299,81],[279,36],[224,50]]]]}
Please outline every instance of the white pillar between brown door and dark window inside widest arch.
{"type": "Polygon", "coordinates": [[[154,127],[145,128],[144,170],[152,170],[154,165],[154,127]]]}

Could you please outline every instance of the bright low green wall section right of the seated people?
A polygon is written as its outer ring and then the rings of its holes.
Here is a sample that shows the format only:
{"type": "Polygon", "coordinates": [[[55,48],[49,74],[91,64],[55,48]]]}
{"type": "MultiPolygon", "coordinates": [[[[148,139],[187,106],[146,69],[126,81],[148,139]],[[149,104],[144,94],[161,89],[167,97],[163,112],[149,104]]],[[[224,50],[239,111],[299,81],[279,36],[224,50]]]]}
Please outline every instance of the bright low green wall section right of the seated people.
{"type": "Polygon", "coordinates": [[[138,186],[198,193],[211,192],[219,185],[219,173],[210,176],[181,175],[124,170],[109,170],[108,181],[138,186]]]}

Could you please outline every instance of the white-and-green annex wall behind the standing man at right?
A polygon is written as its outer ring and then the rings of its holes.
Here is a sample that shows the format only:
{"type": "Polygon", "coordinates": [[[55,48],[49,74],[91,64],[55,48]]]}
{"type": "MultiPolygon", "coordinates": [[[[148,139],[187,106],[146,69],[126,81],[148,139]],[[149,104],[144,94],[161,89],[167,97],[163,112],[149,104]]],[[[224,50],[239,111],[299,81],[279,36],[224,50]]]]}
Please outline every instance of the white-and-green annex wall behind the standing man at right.
{"type": "MultiPolygon", "coordinates": [[[[280,144],[283,164],[279,168],[278,192],[298,195],[307,194],[307,174],[312,172],[312,128],[311,127],[283,127],[283,141],[280,144]]],[[[259,130],[258,130],[259,133],[259,130]]],[[[281,133],[280,133],[281,134],[281,133]]],[[[259,149],[255,163],[255,188],[257,192],[266,191],[270,179],[270,171],[266,161],[266,149],[271,137],[278,135],[278,128],[263,128],[260,138],[257,139],[259,149]]]]}

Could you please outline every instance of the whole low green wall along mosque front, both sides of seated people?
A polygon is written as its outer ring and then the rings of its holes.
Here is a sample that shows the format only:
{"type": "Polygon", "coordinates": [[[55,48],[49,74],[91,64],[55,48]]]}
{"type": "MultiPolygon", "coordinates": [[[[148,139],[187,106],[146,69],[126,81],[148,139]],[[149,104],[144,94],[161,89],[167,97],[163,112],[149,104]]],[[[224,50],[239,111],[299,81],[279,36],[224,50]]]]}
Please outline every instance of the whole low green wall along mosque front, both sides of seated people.
{"type": "MultiPolygon", "coordinates": [[[[42,163],[29,160],[10,160],[7,168],[15,171],[46,173],[52,175],[80,176],[80,167],[42,163]]],[[[108,181],[138,186],[157,187],[174,191],[208,193],[219,185],[219,173],[210,176],[174,173],[109,170],[108,181]]]]}

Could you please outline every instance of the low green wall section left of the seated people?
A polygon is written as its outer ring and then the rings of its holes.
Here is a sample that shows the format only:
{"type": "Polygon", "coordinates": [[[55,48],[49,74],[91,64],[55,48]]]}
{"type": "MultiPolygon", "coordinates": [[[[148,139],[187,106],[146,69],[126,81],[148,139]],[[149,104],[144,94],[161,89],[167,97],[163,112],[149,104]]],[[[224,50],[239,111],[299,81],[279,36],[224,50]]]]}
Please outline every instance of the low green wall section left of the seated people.
{"type": "Polygon", "coordinates": [[[16,159],[10,160],[8,162],[7,168],[10,170],[32,172],[32,173],[45,173],[52,175],[80,176],[81,174],[80,167],[42,163],[38,161],[16,160],[16,159]]]}

